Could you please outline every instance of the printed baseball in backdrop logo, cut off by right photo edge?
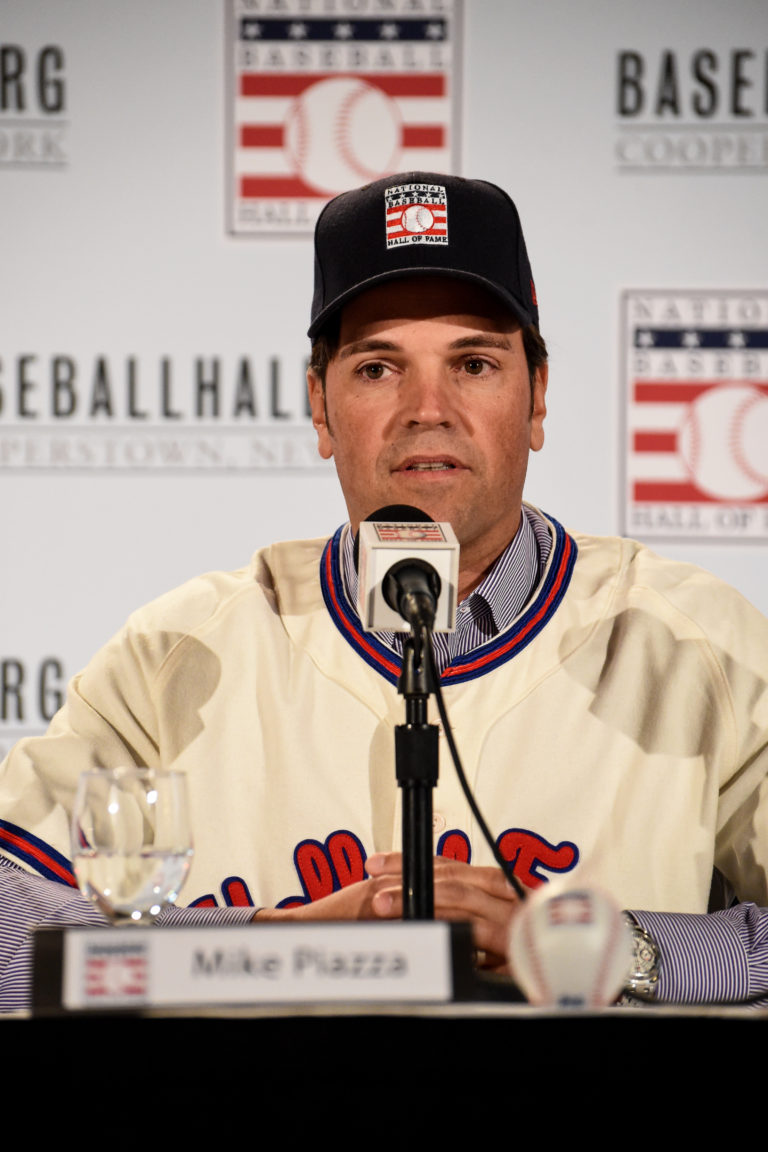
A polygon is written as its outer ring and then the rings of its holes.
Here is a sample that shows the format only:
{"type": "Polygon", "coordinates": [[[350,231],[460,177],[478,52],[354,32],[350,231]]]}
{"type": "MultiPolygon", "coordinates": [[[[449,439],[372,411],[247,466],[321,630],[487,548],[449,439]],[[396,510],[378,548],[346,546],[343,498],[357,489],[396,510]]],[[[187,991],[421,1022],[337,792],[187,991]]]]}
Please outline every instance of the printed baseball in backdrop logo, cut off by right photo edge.
{"type": "Polygon", "coordinates": [[[717,500],[768,493],[768,395],[746,384],[723,385],[691,404],[678,449],[697,486],[717,500]]]}

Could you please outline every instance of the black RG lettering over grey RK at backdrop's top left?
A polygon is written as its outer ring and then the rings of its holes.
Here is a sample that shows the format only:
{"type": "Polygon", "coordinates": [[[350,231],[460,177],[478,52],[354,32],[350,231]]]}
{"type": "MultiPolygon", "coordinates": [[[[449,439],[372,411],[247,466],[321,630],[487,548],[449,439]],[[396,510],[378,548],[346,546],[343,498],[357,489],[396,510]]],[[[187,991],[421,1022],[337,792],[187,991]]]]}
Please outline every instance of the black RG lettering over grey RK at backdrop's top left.
{"type": "Polygon", "coordinates": [[[0,169],[63,168],[64,52],[58,44],[0,44],[0,169]]]}

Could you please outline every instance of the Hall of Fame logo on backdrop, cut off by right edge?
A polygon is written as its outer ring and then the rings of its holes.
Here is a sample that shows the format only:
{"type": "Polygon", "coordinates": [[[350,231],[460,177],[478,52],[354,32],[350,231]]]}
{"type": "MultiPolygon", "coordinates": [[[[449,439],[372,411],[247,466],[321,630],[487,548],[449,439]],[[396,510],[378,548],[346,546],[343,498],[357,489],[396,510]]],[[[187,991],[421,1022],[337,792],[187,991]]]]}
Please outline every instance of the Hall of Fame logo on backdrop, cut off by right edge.
{"type": "Polygon", "coordinates": [[[768,539],[768,291],[626,291],[629,536],[768,539]]]}

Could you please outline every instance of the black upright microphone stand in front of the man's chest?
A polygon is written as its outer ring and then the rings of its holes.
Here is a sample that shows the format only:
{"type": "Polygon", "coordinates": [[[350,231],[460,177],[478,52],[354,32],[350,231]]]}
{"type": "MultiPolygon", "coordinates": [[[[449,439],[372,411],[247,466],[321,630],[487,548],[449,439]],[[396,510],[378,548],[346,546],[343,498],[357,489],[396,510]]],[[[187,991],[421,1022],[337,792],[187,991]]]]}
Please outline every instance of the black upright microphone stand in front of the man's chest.
{"type": "Polygon", "coordinates": [[[403,919],[434,919],[432,789],[438,783],[438,726],[427,723],[429,672],[426,626],[403,645],[397,691],[405,723],[395,728],[395,773],[403,798],[403,919]]]}

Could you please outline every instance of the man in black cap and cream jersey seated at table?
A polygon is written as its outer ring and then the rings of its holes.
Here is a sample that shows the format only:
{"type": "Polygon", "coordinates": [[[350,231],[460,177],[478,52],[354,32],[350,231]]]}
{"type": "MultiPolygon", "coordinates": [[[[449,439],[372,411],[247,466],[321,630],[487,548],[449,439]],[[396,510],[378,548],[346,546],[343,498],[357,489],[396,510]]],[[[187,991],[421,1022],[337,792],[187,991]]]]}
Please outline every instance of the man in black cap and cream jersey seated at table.
{"type": "MultiPolygon", "coordinates": [[[[196,907],[165,919],[398,916],[402,637],[363,632],[352,551],[360,520],[403,502],[462,546],[439,665],[522,882],[573,873],[651,909],[634,916],[656,938],[662,996],[768,988],[768,915],[704,915],[713,864],[768,903],[768,623],[697,569],[523,505],[547,365],[509,197],[408,173],[332,202],[310,335],[313,423],[349,525],[161,598],[75,679],[48,735],[0,774],[7,899],[26,923],[97,916],[64,887],[71,795],[85,767],[128,761],[190,783],[196,907]]],[[[444,756],[435,831],[435,912],[471,920],[500,968],[515,896],[444,756]]],[[[13,917],[7,1005],[26,963],[13,917]]]]}

